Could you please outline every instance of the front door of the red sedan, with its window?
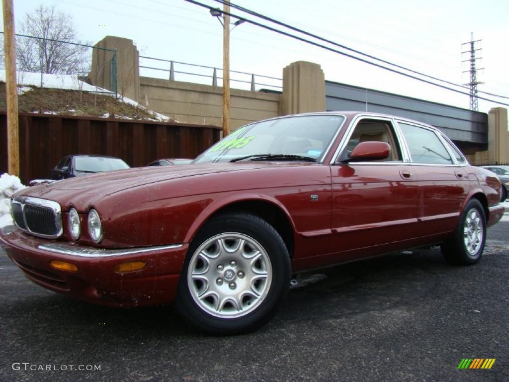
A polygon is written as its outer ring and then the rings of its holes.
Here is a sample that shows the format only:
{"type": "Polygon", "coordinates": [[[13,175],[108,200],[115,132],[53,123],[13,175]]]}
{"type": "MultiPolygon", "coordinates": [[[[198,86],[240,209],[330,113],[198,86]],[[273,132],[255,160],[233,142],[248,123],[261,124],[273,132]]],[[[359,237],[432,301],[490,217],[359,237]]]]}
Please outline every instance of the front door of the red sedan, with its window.
{"type": "Polygon", "coordinates": [[[416,235],[417,175],[405,161],[391,118],[357,117],[338,149],[332,176],[330,252],[338,261],[397,251],[416,235]],[[341,162],[360,142],[386,142],[389,158],[341,162]]]}

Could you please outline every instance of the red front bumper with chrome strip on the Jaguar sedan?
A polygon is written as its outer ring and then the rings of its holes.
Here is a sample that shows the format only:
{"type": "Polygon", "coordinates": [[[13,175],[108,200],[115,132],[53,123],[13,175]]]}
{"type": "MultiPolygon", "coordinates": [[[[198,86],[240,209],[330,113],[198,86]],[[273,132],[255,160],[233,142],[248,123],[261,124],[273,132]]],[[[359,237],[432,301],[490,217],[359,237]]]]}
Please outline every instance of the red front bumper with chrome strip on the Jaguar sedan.
{"type": "Polygon", "coordinates": [[[173,300],[188,244],[98,249],[33,237],[14,226],[0,229],[0,244],[23,274],[54,292],[109,306],[147,306],[173,300]],[[76,265],[77,272],[54,269],[51,260],[76,265]],[[142,270],[119,274],[114,268],[145,261],[142,270]]]}

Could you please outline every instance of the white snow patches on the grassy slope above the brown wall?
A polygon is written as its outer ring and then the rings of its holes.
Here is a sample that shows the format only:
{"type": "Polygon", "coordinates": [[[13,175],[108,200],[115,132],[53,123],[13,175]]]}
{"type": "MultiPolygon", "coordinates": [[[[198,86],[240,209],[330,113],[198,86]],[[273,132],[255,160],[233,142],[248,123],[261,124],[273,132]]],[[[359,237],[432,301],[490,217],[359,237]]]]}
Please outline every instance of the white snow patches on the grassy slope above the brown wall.
{"type": "MultiPolygon", "coordinates": [[[[78,90],[78,91],[86,91],[90,93],[101,93],[108,96],[115,96],[114,92],[111,92],[110,90],[100,88],[98,86],[93,86],[90,84],[87,84],[84,81],[81,81],[78,79],[78,76],[76,74],[47,74],[43,73],[41,77],[41,73],[36,72],[17,72],[16,80],[19,86],[19,94],[23,94],[27,91],[30,91],[32,88],[31,86],[41,87],[42,82],[42,88],[48,88],[48,89],[65,89],[65,90],[78,90]]],[[[5,69],[0,69],[0,81],[5,82],[5,69]]],[[[141,107],[150,114],[153,115],[154,119],[161,121],[161,122],[169,122],[171,121],[171,118],[166,117],[163,114],[153,112],[152,110],[147,109],[144,105],[130,99],[127,97],[122,97],[118,95],[118,101],[129,103],[133,106],[141,107]]],[[[73,112],[72,110],[69,110],[69,112],[73,112]]],[[[45,113],[45,114],[56,114],[56,113],[45,113]]],[[[104,117],[108,118],[109,114],[105,114],[104,117]]],[[[116,118],[121,119],[132,119],[129,117],[123,117],[123,116],[115,116],[116,118]]]]}

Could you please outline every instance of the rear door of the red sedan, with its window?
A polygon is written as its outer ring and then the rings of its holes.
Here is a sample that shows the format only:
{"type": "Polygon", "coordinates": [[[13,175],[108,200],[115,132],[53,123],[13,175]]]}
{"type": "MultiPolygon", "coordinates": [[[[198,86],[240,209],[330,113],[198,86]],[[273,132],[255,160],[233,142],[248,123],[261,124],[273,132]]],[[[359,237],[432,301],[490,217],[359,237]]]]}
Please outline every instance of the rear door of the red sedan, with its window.
{"type": "Polygon", "coordinates": [[[470,188],[465,159],[435,129],[407,121],[398,121],[398,126],[419,180],[420,236],[454,231],[470,188]]]}

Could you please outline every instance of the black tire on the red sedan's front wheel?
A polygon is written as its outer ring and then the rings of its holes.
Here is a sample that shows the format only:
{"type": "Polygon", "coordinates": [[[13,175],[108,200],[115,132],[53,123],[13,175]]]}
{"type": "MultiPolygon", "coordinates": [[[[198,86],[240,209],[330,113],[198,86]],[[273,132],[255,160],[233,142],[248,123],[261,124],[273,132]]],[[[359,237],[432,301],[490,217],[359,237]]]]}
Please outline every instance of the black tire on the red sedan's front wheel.
{"type": "MultiPolygon", "coordinates": [[[[228,240],[228,238],[225,238],[228,240]]],[[[240,245],[240,244],[239,244],[240,245]]],[[[219,247],[216,245],[216,247],[219,247]]],[[[227,248],[225,245],[221,248],[227,248]]],[[[222,251],[221,248],[218,248],[217,259],[225,258],[229,253],[222,251]]],[[[239,247],[240,248],[240,247],[239,247]]],[[[243,249],[241,251],[244,251],[243,249]]],[[[239,260],[239,268],[242,266],[241,262],[244,261],[242,256],[236,255],[239,260]]],[[[203,258],[203,256],[202,256],[203,258]]],[[[225,269],[230,267],[230,260],[232,258],[227,259],[227,263],[225,264],[225,269]]],[[[212,261],[212,260],[211,260],[212,261]]],[[[218,261],[215,260],[214,261],[218,261]]],[[[232,260],[233,261],[233,260],[232,260]]],[[[203,260],[202,260],[203,262],[203,260]]],[[[220,262],[220,261],[219,261],[220,262]]],[[[204,275],[207,275],[207,281],[204,283],[205,290],[209,289],[210,280],[213,277],[216,277],[215,271],[218,272],[218,278],[224,277],[225,284],[213,285],[213,288],[223,288],[226,285],[231,286],[231,281],[227,281],[227,274],[225,270],[224,273],[221,273],[217,270],[219,265],[212,265],[212,262],[205,262],[202,267],[204,270],[204,275]],[[228,283],[228,284],[227,284],[228,283]],[[221,285],[221,286],[218,286],[221,285]]],[[[247,266],[247,268],[252,268],[252,261],[249,263],[251,265],[247,266]]],[[[221,268],[222,269],[222,268],[221,268]]],[[[251,271],[250,269],[248,271],[251,271]]],[[[248,271],[246,270],[245,274],[245,283],[247,283],[248,271]]],[[[238,271],[234,272],[236,280],[235,282],[238,285],[241,285],[243,280],[240,279],[240,274],[238,271]]],[[[269,271],[267,271],[268,273],[269,271]]],[[[231,276],[229,274],[228,276],[231,276]]],[[[285,242],[282,240],[281,236],[277,233],[277,231],[266,221],[260,219],[258,216],[254,216],[245,212],[233,212],[223,215],[218,215],[209,220],[197,233],[197,235],[192,240],[189,250],[187,252],[187,257],[182,267],[182,272],[179,280],[179,285],[177,289],[177,295],[175,298],[175,307],[177,312],[181,315],[181,317],[188,323],[195,326],[197,329],[205,331],[210,334],[215,335],[232,335],[232,334],[240,334],[254,331],[260,326],[264,325],[268,322],[276,313],[281,301],[286,297],[288,293],[288,289],[290,286],[290,276],[291,276],[291,266],[290,266],[290,256],[288,254],[287,247],[285,242]],[[242,237],[247,237],[246,242],[249,242],[251,239],[253,242],[256,241],[257,244],[260,244],[262,252],[265,251],[264,260],[268,266],[270,266],[271,272],[271,280],[265,285],[263,298],[254,299],[254,303],[252,306],[247,307],[251,303],[247,301],[247,305],[243,302],[243,297],[238,297],[237,307],[245,307],[248,313],[239,313],[244,314],[240,317],[224,317],[221,316],[221,312],[208,311],[208,306],[206,304],[214,305],[214,303],[206,302],[206,299],[202,299],[199,296],[199,292],[196,291],[196,284],[194,280],[189,280],[190,275],[194,275],[194,271],[197,266],[197,262],[201,261],[198,253],[203,253],[203,251],[209,251],[208,248],[204,247],[204,245],[208,245],[208,243],[216,242],[214,240],[216,237],[222,237],[222,235],[238,235],[242,237]],[[199,251],[200,250],[200,251],[199,251]],[[193,261],[191,262],[191,259],[193,261]],[[270,264],[269,264],[270,263],[270,264]],[[190,269],[191,266],[191,269],[190,269]],[[191,284],[191,285],[190,285],[191,284]],[[255,308],[256,306],[256,308],[255,308]],[[252,309],[252,310],[249,310],[252,309]],[[219,316],[214,316],[214,314],[218,314],[219,316]]],[[[217,280],[217,279],[214,279],[217,280]]],[[[253,285],[252,282],[245,285],[253,285]]],[[[250,289],[251,287],[245,286],[245,288],[250,289]]],[[[221,289],[225,290],[225,289],[221,289]]],[[[219,291],[219,293],[221,293],[219,291]]],[[[228,293],[225,290],[225,293],[228,293]]],[[[234,292],[232,292],[234,293],[234,292]]],[[[239,295],[242,296],[242,289],[239,287],[239,295]]],[[[224,295],[220,294],[220,297],[217,298],[219,301],[222,298],[224,301],[224,295]]],[[[249,298],[249,297],[248,297],[249,298]]],[[[232,304],[231,311],[235,310],[235,307],[232,304]]],[[[213,309],[213,308],[210,308],[213,309]]],[[[237,308],[238,311],[244,308],[237,308]]],[[[225,310],[226,311],[226,310],[225,310]]],[[[226,313],[228,314],[228,312],[226,313]]],[[[236,313],[234,313],[236,314],[236,313]]]]}

